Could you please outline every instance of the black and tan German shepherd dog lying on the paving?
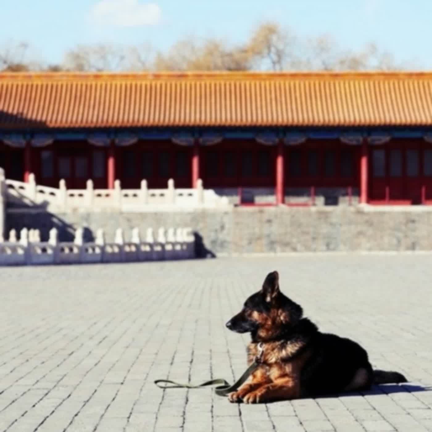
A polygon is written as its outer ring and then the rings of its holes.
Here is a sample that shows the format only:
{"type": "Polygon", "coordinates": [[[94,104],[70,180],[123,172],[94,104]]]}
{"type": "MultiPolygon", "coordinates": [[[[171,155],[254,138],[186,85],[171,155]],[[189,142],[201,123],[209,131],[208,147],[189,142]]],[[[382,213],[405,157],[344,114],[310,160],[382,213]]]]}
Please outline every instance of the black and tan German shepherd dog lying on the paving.
{"type": "Polygon", "coordinates": [[[398,372],[374,371],[358,343],[321,333],[302,315],[301,306],[280,292],[274,271],[226,323],[229,330],[251,333],[248,365],[261,357],[249,380],[228,395],[231,402],[266,403],[407,382],[398,372]]]}

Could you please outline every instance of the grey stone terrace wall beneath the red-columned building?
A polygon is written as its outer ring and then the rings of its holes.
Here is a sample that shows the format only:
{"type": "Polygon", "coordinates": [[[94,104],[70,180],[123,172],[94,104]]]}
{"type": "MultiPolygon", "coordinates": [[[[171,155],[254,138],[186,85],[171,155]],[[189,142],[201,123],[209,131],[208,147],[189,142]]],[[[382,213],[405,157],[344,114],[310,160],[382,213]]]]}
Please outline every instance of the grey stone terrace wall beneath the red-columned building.
{"type": "Polygon", "coordinates": [[[429,207],[377,208],[360,206],[236,207],[228,211],[201,210],[176,213],[72,213],[9,209],[7,229],[41,230],[48,238],[53,226],[60,240],[73,238],[78,226],[92,239],[103,228],[108,241],[114,230],[126,238],[134,227],[191,226],[202,241],[200,254],[259,254],[293,251],[426,251],[432,250],[432,209],[429,207]]]}

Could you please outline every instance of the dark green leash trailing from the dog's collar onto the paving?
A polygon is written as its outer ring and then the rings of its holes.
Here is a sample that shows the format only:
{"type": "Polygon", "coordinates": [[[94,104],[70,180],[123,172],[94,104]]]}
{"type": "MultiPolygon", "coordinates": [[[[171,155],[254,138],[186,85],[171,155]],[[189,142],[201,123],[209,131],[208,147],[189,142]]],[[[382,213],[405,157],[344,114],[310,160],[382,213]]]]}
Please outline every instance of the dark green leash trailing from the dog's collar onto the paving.
{"type": "Polygon", "coordinates": [[[215,393],[218,396],[226,396],[232,391],[236,391],[255,372],[255,370],[262,363],[263,354],[264,354],[264,345],[262,342],[260,342],[258,344],[258,355],[255,357],[254,362],[245,370],[243,375],[241,375],[241,377],[238,378],[238,380],[235,381],[235,383],[232,385],[229,385],[229,382],[224,380],[223,378],[212,379],[210,381],[205,381],[202,384],[197,384],[197,385],[181,384],[176,381],[158,379],[155,381],[155,384],[159,388],[203,388],[203,387],[209,387],[212,385],[220,384],[215,388],[215,393]],[[161,383],[171,384],[171,385],[159,385],[161,383]]]}

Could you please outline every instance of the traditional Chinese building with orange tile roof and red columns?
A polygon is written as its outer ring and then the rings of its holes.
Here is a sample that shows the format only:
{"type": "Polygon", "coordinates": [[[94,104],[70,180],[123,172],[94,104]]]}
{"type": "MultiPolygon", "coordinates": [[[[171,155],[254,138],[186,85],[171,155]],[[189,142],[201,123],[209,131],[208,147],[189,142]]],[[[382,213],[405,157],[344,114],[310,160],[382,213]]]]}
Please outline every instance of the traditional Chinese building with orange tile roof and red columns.
{"type": "Polygon", "coordinates": [[[2,73],[6,177],[432,202],[432,73],[2,73]]]}

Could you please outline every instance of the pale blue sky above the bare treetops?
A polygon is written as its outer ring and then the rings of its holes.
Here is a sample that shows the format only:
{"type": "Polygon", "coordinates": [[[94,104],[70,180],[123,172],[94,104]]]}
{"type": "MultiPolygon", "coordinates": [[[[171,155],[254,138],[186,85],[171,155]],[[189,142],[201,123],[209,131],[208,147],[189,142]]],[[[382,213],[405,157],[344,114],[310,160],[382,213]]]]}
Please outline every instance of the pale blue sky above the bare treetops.
{"type": "Polygon", "coordinates": [[[3,0],[0,49],[28,41],[54,64],[77,44],[142,44],[165,50],[185,35],[245,41],[263,20],[302,36],[330,33],[341,48],[368,42],[411,69],[432,69],[430,0],[3,0]]]}

